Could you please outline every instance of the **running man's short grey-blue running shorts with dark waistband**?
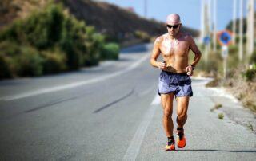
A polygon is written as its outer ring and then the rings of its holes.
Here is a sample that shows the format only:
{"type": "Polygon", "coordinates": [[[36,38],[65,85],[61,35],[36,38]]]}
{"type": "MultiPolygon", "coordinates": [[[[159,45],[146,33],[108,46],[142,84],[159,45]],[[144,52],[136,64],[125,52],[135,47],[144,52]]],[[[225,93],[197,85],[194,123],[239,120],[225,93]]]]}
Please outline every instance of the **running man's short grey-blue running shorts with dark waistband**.
{"type": "Polygon", "coordinates": [[[191,79],[186,73],[160,73],[158,94],[174,92],[175,96],[193,96],[191,79]]]}

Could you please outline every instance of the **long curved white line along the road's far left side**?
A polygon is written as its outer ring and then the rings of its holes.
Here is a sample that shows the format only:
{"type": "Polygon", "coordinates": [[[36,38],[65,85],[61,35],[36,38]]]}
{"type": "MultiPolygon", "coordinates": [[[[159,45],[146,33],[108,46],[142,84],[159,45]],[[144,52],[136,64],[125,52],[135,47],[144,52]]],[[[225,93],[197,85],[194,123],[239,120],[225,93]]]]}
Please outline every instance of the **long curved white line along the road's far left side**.
{"type": "Polygon", "coordinates": [[[56,86],[56,87],[42,88],[42,89],[38,89],[38,90],[35,90],[35,91],[32,91],[32,92],[24,92],[22,94],[17,94],[17,95],[14,95],[14,96],[6,96],[6,97],[0,98],[0,100],[17,100],[17,99],[25,98],[25,97],[28,97],[28,96],[36,96],[36,95],[43,94],[43,93],[61,91],[61,90],[64,90],[64,89],[74,88],[74,87],[78,87],[78,86],[82,86],[82,85],[86,85],[86,84],[95,83],[95,82],[98,82],[98,81],[105,81],[106,79],[109,79],[111,77],[116,77],[116,76],[121,75],[123,73],[129,72],[132,69],[135,69],[136,67],[138,67],[138,65],[140,65],[142,63],[142,61],[145,61],[149,56],[150,56],[150,54],[146,54],[145,56],[143,56],[141,59],[139,59],[133,65],[130,65],[126,69],[124,69],[122,71],[118,71],[116,73],[108,74],[108,75],[103,76],[103,77],[97,77],[97,78],[94,78],[94,79],[91,79],[91,80],[79,81],[79,82],[75,82],[75,83],[71,83],[71,84],[59,85],[59,86],[56,86]]]}

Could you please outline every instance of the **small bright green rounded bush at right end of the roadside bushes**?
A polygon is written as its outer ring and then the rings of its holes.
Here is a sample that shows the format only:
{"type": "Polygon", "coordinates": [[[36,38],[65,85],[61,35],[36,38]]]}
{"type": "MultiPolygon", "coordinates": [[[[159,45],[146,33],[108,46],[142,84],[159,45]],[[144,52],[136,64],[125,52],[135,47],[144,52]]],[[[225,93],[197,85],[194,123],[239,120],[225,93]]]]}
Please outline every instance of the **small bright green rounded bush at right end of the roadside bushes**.
{"type": "Polygon", "coordinates": [[[109,43],[103,46],[102,59],[103,60],[118,60],[120,48],[116,43],[109,43]]]}

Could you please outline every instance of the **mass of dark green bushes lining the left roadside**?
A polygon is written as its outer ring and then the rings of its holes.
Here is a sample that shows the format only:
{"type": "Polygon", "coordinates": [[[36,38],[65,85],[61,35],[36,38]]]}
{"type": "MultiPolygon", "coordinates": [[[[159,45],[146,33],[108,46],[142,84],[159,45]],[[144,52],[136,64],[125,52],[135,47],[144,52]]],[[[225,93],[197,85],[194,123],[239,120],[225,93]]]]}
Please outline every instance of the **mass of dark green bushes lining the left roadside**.
{"type": "Polygon", "coordinates": [[[0,79],[40,76],[118,59],[119,46],[50,2],[0,31],[0,79]]]}

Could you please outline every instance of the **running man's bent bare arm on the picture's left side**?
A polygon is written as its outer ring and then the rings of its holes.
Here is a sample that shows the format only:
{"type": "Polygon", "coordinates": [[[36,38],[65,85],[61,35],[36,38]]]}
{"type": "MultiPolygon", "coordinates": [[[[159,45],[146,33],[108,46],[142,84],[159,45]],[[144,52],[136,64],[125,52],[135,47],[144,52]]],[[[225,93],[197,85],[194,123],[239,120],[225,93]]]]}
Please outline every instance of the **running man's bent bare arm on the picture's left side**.
{"type": "Polygon", "coordinates": [[[150,64],[156,68],[159,69],[166,69],[166,64],[162,63],[162,62],[158,62],[158,56],[160,55],[160,37],[158,37],[155,41],[154,41],[154,48],[151,54],[151,58],[150,58],[150,64]]]}

